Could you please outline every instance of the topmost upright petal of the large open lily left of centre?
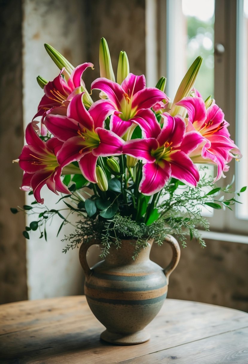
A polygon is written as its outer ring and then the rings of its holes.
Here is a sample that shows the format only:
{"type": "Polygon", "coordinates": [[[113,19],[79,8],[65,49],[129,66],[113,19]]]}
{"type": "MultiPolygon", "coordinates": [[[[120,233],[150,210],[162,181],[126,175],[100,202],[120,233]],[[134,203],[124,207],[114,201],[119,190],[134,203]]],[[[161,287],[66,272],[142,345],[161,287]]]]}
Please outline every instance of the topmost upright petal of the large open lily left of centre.
{"type": "Polygon", "coordinates": [[[73,97],[67,108],[67,116],[76,120],[88,130],[93,130],[94,122],[83,104],[83,94],[84,92],[73,97]]]}

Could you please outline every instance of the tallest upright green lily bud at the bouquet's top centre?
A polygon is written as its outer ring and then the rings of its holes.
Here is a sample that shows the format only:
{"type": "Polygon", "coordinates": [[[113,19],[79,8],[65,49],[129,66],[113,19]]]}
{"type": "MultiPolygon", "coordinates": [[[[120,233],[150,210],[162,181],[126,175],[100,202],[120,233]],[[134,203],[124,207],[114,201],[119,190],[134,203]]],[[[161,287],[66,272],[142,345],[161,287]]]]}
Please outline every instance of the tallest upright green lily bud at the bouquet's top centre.
{"type": "Polygon", "coordinates": [[[101,38],[99,47],[100,76],[115,82],[115,75],[111,63],[108,43],[105,38],[101,38]]]}

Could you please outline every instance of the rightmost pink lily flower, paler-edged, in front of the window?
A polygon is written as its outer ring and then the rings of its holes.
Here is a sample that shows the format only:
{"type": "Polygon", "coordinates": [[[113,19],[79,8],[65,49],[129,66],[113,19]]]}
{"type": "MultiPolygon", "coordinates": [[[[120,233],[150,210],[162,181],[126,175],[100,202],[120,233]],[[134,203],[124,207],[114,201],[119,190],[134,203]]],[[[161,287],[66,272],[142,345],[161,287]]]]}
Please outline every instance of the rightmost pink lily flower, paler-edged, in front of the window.
{"type": "MultiPolygon", "coordinates": [[[[195,90],[195,97],[185,97],[176,105],[187,109],[187,131],[197,130],[205,139],[205,145],[195,149],[189,157],[195,163],[217,165],[215,181],[227,170],[227,163],[232,158],[241,158],[239,148],[230,138],[224,119],[224,113],[214,102],[206,109],[203,98],[195,90]]],[[[223,176],[224,177],[224,176],[223,176]]]]}

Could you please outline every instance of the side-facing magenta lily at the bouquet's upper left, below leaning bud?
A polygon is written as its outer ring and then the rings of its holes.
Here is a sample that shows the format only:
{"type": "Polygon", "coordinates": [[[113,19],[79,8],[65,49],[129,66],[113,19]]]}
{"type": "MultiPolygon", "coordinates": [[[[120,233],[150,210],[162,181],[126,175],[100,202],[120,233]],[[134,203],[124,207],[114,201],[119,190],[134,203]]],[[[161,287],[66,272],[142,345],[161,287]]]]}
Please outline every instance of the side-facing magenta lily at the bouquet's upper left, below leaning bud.
{"type": "MultiPolygon", "coordinates": [[[[44,117],[51,112],[51,110],[60,108],[56,110],[56,114],[66,115],[69,101],[71,101],[75,94],[81,93],[81,86],[85,86],[82,80],[82,75],[88,67],[93,69],[93,64],[83,63],[77,66],[72,71],[68,81],[66,81],[62,76],[64,71],[63,68],[60,74],[53,81],[48,82],[44,86],[45,95],[39,103],[38,112],[33,117],[33,119],[35,119],[36,116],[42,116],[41,135],[47,134],[47,130],[43,125],[43,120],[44,117]]],[[[55,111],[53,111],[53,113],[55,113],[55,111]]]]}

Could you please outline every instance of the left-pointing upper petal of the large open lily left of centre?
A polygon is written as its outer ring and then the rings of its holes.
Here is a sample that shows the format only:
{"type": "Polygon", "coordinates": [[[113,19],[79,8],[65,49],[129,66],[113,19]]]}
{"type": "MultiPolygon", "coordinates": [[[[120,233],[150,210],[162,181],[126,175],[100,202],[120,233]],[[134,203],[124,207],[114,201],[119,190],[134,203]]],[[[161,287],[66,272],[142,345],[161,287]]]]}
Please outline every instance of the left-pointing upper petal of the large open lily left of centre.
{"type": "Polygon", "coordinates": [[[67,141],[67,139],[78,135],[78,122],[67,116],[48,114],[44,123],[48,130],[61,141],[67,141]]]}

